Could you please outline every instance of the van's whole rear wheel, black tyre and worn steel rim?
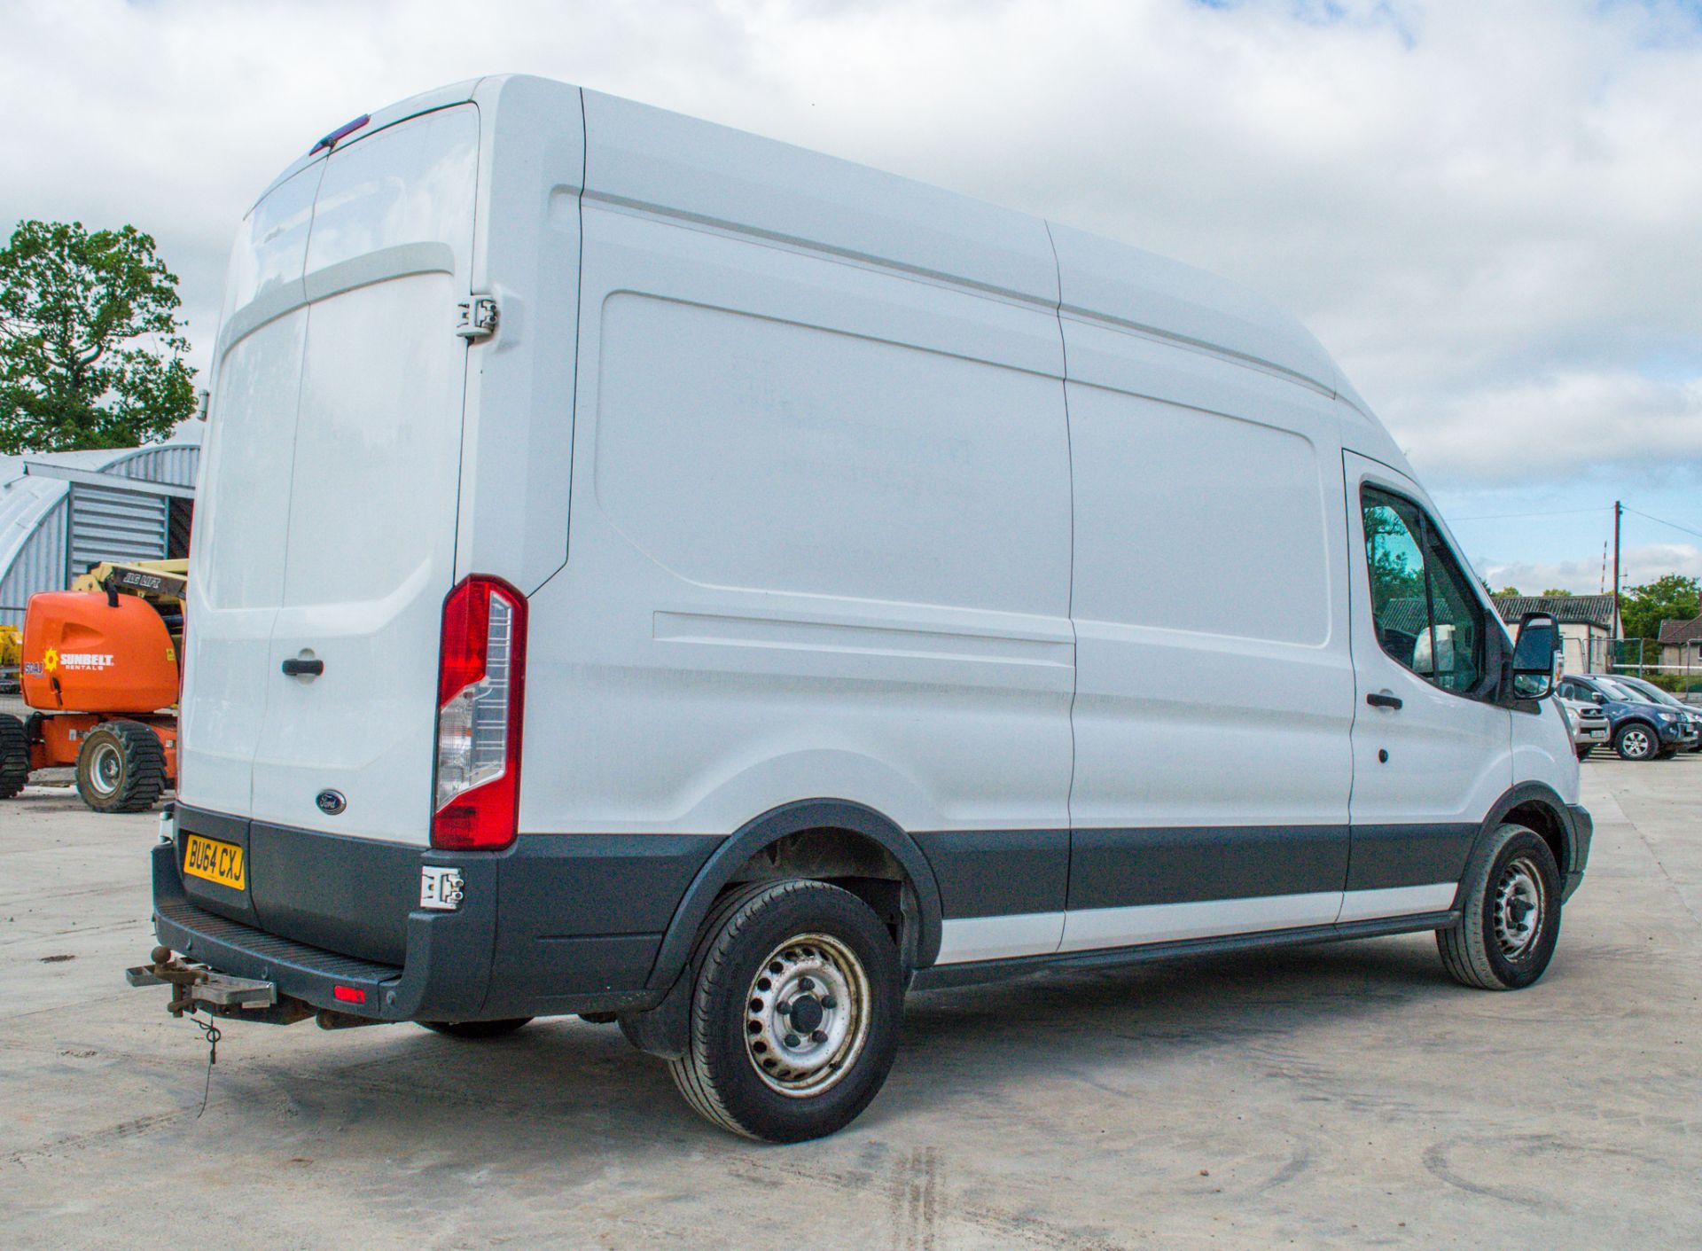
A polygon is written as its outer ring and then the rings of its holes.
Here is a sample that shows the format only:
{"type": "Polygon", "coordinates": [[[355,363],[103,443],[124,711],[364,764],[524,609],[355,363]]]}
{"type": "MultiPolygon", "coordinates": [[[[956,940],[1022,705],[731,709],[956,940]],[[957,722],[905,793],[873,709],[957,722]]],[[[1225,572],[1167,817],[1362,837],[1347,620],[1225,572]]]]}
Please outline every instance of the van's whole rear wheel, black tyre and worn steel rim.
{"type": "Polygon", "coordinates": [[[689,1042],[669,1069],[708,1122],[802,1142],[851,1123],[880,1093],[899,1050],[899,951],[851,892],[732,892],[705,921],[689,975],[689,1042]]]}

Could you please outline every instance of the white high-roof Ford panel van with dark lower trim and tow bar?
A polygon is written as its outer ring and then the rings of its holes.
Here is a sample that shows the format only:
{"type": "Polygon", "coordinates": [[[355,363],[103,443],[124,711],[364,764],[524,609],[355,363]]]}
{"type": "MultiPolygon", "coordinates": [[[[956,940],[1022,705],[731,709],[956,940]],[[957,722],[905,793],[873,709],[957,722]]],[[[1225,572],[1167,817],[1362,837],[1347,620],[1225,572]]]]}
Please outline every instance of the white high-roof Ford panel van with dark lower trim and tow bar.
{"type": "Polygon", "coordinates": [[[1436,931],[1511,989],[1585,870],[1552,621],[1120,243],[482,78],[259,199],[209,420],[177,1011],[618,1021],[797,1140],[911,987],[1436,931]]]}

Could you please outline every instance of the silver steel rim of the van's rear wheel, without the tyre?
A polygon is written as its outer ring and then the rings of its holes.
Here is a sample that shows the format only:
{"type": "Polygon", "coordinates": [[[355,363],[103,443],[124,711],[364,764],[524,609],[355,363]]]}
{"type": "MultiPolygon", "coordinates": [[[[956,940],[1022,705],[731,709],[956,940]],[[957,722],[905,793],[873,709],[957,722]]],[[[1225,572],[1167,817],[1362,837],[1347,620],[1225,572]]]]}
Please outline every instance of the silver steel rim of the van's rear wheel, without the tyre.
{"type": "Polygon", "coordinates": [[[873,992],[863,962],[827,934],[769,951],[745,994],[745,1055],[771,1091],[803,1100],[853,1069],[868,1042],[873,992]]]}

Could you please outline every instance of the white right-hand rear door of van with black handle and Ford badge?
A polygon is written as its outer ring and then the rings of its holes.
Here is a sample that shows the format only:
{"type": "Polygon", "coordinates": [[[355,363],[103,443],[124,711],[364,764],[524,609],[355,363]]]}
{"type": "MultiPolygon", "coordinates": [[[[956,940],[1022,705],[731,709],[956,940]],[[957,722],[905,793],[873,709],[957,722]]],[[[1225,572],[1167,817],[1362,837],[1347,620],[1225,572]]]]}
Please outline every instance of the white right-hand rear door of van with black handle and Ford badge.
{"type": "Polygon", "coordinates": [[[429,841],[478,133],[463,104],[346,143],[325,163],[296,431],[279,466],[289,509],[257,822],[429,841]]]}

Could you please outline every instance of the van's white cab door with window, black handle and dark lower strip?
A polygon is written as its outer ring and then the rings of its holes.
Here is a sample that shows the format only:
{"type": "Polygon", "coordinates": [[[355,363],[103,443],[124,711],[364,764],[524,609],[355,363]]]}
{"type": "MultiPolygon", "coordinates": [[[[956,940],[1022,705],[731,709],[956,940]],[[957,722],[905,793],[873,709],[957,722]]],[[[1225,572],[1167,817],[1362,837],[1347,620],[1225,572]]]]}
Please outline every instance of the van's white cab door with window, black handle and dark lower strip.
{"type": "Polygon", "coordinates": [[[1341,921],[1440,912],[1513,785],[1505,633],[1418,483],[1356,453],[1343,465],[1358,698],[1341,921]]]}

